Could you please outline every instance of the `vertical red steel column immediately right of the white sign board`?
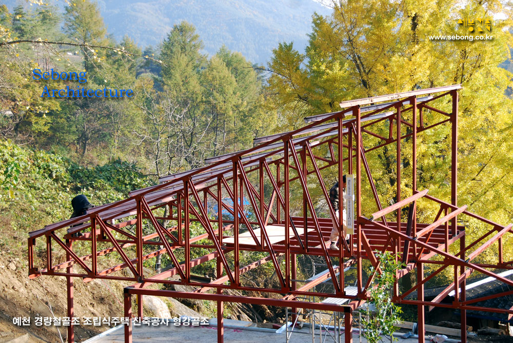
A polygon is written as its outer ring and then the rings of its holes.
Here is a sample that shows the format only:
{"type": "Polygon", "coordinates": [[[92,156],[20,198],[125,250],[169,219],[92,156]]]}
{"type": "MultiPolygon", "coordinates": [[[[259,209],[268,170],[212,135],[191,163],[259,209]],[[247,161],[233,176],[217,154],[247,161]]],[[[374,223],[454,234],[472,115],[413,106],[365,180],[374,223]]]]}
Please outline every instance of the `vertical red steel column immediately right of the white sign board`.
{"type": "MultiPolygon", "coordinates": [[[[356,217],[357,217],[357,286],[358,286],[358,294],[362,293],[362,225],[360,223],[360,216],[362,215],[362,156],[360,154],[360,149],[362,148],[362,139],[360,139],[362,135],[362,122],[361,122],[361,113],[360,106],[354,106],[352,109],[353,116],[356,117],[356,217]]],[[[342,265],[339,267],[341,270],[344,268],[342,265]]],[[[347,327],[346,327],[347,330],[347,327]]],[[[352,339],[352,337],[351,337],[352,339]]],[[[347,342],[347,333],[346,333],[346,342],[347,342]]]]}

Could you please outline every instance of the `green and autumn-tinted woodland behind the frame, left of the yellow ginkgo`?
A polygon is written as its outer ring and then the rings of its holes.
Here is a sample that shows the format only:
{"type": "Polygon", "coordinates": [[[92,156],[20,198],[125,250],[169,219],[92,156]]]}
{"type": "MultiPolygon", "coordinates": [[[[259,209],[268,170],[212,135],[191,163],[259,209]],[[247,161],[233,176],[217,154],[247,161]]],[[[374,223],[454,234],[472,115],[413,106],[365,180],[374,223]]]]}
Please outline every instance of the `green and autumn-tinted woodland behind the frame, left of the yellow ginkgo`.
{"type": "Polygon", "coordinates": [[[12,13],[0,6],[7,39],[79,42],[81,48],[38,43],[4,46],[0,54],[0,133],[13,142],[54,149],[80,164],[120,158],[145,174],[196,168],[206,157],[250,146],[273,127],[264,112],[260,72],[240,53],[221,47],[202,54],[193,25],[166,33],[160,52],[142,52],[129,36],[116,43],[90,1],[12,13]],[[62,28],[62,29],[61,29],[62,28]],[[112,49],[91,49],[87,45],[112,49]],[[123,53],[122,53],[123,52],[123,53]],[[83,73],[86,83],[35,79],[33,69],[83,73]],[[132,98],[42,97],[48,89],[130,89],[132,98]]]}

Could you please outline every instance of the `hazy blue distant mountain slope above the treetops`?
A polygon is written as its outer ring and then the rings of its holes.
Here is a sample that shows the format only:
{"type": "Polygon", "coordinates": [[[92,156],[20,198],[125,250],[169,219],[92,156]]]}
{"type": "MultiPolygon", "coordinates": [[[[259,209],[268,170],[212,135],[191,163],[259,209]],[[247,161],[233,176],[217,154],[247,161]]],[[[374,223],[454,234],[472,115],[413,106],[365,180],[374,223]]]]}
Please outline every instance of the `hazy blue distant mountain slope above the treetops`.
{"type": "MultiPolygon", "coordinates": [[[[23,0],[2,3],[12,10],[23,0]]],[[[65,2],[49,2],[65,5],[65,2]]],[[[252,62],[265,64],[280,42],[291,42],[301,50],[308,42],[314,12],[326,15],[331,9],[313,0],[98,0],[109,33],[117,41],[128,35],[144,48],[162,42],[173,25],[193,24],[209,55],[224,44],[252,62]]]]}

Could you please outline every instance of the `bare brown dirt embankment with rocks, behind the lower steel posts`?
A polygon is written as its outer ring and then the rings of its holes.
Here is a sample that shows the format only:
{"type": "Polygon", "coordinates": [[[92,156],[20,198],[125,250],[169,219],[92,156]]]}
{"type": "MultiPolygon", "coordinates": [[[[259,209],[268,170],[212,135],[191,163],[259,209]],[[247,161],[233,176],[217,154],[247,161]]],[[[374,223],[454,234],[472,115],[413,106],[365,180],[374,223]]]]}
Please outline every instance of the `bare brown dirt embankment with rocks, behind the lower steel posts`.
{"type": "MultiPolygon", "coordinates": [[[[23,255],[19,252],[0,250],[0,343],[24,335],[26,337],[23,337],[23,341],[28,339],[30,342],[65,342],[67,341],[67,327],[38,326],[35,325],[35,318],[67,316],[66,278],[44,275],[29,279],[27,260],[23,255]],[[14,324],[13,318],[16,317],[29,317],[30,325],[14,324]]],[[[100,279],[84,284],[81,278],[74,278],[74,316],[81,318],[81,325],[75,326],[75,341],[83,341],[109,328],[107,325],[84,325],[82,318],[123,317],[123,288],[130,284],[133,284],[133,281],[122,284],[115,280],[100,279]]],[[[153,286],[158,287],[159,285],[153,286]]],[[[153,287],[150,286],[150,288],[153,287]]],[[[176,299],[162,299],[172,317],[200,315],[190,307],[199,310],[202,316],[212,317],[215,315],[212,312],[215,311],[215,304],[205,307],[203,301],[200,301],[200,304],[188,304],[185,300],[186,305],[184,305],[176,299]]],[[[243,305],[245,304],[225,308],[227,317],[259,322],[279,321],[278,314],[266,307],[243,305]]],[[[135,301],[132,301],[132,306],[132,313],[136,313],[135,301]]],[[[144,315],[154,315],[149,306],[145,306],[144,315]]]]}

